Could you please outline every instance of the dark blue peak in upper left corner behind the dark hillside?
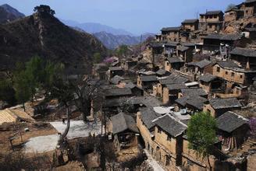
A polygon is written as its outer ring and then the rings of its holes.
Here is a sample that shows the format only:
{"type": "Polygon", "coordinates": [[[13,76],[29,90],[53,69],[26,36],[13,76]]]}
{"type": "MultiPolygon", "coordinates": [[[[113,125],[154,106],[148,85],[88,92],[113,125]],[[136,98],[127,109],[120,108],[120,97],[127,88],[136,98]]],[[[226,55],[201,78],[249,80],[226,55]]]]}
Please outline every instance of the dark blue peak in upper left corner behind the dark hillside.
{"type": "Polygon", "coordinates": [[[19,12],[17,9],[13,9],[10,5],[0,5],[0,23],[8,23],[23,17],[25,17],[23,13],[19,12]]]}

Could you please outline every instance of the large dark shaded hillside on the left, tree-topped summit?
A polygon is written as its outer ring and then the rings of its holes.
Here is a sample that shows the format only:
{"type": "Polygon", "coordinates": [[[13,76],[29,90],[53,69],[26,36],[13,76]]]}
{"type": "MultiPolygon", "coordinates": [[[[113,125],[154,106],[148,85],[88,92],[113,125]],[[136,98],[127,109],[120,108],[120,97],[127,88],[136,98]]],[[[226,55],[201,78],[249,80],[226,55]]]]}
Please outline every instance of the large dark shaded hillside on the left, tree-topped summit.
{"type": "Polygon", "coordinates": [[[69,74],[87,73],[96,52],[106,54],[98,39],[73,30],[45,12],[0,25],[0,68],[12,69],[17,61],[26,62],[38,55],[62,62],[69,74]]]}

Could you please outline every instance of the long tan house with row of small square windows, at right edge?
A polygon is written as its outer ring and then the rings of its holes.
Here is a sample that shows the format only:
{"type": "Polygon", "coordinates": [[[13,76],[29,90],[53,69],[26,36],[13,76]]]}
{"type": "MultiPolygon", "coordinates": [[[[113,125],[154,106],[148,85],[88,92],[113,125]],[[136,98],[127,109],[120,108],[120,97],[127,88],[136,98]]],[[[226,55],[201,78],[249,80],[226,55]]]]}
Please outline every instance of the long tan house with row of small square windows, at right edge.
{"type": "Polygon", "coordinates": [[[234,61],[219,61],[212,67],[212,75],[225,79],[226,87],[231,88],[234,83],[249,85],[252,83],[255,71],[240,68],[234,61]]]}

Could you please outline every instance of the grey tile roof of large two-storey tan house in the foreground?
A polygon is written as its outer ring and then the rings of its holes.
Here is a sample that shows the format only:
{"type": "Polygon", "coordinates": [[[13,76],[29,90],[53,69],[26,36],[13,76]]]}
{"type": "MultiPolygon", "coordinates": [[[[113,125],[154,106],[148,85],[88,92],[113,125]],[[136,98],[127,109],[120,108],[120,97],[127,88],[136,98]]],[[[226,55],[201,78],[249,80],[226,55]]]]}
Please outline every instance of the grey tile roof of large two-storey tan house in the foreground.
{"type": "Polygon", "coordinates": [[[175,138],[187,130],[186,124],[183,124],[180,120],[176,120],[176,118],[172,117],[170,114],[158,117],[154,120],[154,123],[175,138]]]}

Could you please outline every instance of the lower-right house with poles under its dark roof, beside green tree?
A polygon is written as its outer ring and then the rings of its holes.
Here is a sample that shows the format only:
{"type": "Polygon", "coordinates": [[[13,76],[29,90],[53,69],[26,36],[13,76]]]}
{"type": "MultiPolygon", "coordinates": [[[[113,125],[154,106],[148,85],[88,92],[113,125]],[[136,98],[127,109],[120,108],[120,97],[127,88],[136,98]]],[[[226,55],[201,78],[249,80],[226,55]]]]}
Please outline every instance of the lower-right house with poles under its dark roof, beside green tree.
{"type": "Polygon", "coordinates": [[[222,151],[233,151],[233,149],[240,148],[243,145],[250,129],[248,121],[246,118],[231,111],[217,118],[218,136],[222,141],[222,151]]]}

